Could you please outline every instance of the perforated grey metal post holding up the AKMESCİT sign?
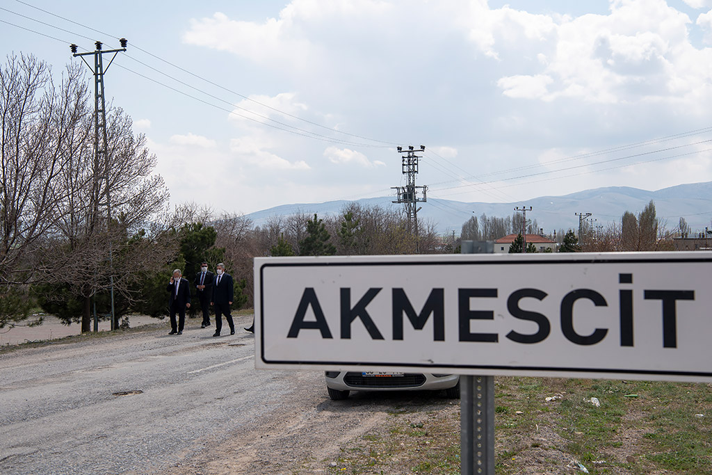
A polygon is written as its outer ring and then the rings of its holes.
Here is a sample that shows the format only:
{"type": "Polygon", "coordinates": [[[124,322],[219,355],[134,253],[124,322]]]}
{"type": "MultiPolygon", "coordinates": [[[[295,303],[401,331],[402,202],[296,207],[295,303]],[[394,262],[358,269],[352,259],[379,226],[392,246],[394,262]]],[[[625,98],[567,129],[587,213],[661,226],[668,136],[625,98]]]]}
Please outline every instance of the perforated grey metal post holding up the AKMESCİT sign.
{"type": "MultiPolygon", "coordinates": [[[[491,241],[461,244],[461,254],[493,250],[491,241]]],[[[460,473],[494,475],[493,376],[460,376],[460,473]]]]}

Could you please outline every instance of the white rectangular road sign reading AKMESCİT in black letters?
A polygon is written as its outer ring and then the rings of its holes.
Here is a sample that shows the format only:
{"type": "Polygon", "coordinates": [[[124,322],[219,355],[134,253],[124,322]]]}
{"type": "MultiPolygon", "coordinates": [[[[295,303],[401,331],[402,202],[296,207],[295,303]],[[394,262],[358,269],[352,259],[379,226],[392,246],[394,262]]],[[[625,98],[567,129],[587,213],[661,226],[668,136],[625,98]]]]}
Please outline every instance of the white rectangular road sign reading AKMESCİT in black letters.
{"type": "Polygon", "coordinates": [[[257,258],[256,367],[712,381],[712,252],[257,258]]]}

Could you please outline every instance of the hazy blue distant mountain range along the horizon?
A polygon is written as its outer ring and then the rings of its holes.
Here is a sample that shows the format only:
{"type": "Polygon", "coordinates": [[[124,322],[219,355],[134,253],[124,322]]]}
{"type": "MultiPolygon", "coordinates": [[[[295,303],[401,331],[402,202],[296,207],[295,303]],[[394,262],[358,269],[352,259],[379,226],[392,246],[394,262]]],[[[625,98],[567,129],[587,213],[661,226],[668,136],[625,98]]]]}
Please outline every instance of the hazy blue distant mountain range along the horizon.
{"type": "MultiPolygon", "coordinates": [[[[357,203],[365,207],[379,206],[385,209],[399,207],[393,204],[394,197],[358,199],[357,203]]],[[[579,218],[576,213],[591,213],[595,224],[607,226],[612,221],[619,222],[626,211],[638,214],[653,200],[657,216],[666,220],[666,227],[674,229],[683,216],[692,231],[701,231],[711,226],[712,219],[712,182],[680,184],[676,187],[659,189],[651,192],[630,187],[605,187],[587,189],[582,192],[567,194],[562,197],[538,197],[525,202],[479,203],[456,202],[449,199],[428,198],[421,203],[418,212],[419,221],[430,221],[441,234],[460,234],[462,224],[471,216],[511,216],[515,207],[532,207],[527,213],[528,219],[536,219],[546,233],[555,229],[577,229],[579,218]]],[[[325,203],[283,204],[248,214],[256,225],[265,224],[275,216],[291,214],[318,214],[334,216],[340,214],[349,201],[339,200],[325,203]]]]}

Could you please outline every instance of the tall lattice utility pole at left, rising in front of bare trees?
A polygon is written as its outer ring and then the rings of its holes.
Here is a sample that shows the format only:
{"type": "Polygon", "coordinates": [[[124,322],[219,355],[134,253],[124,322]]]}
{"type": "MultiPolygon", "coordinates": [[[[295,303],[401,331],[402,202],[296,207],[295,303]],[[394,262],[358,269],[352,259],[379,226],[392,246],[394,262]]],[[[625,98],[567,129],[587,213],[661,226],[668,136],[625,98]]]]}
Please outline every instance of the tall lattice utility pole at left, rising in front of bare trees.
{"type": "MultiPolygon", "coordinates": [[[[116,58],[116,55],[120,51],[126,51],[126,38],[121,38],[119,40],[121,43],[120,49],[112,49],[102,51],[103,43],[97,41],[94,43],[96,46],[95,51],[89,51],[88,53],[77,53],[77,46],[72,43],[69,48],[73,53],[73,57],[79,56],[82,61],[89,67],[89,69],[94,73],[94,206],[95,206],[95,216],[98,216],[98,207],[100,204],[106,204],[106,229],[109,235],[109,279],[110,279],[110,293],[111,293],[111,329],[117,330],[119,328],[119,322],[117,321],[116,314],[114,311],[114,263],[112,257],[112,246],[111,246],[111,197],[110,197],[110,184],[109,184],[109,144],[106,133],[106,101],[104,99],[104,73],[108,71],[109,66],[116,58]],[[104,68],[103,54],[104,53],[114,53],[111,61],[109,61],[108,66],[104,68]],[[84,59],[84,56],[94,55],[94,68],[91,67],[89,63],[84,59]],[[99,175],[99,167],[103,162],[104,170],[103,175],[99,175]],[[100,179],[105,180],[104,187],[104,197],[106,199],[105,203],[99,202],[100,193],[100,179]]],[[[96,312],[94,313],[94,331],[98,331],[98,322],[96,319],[96,312]]]]}

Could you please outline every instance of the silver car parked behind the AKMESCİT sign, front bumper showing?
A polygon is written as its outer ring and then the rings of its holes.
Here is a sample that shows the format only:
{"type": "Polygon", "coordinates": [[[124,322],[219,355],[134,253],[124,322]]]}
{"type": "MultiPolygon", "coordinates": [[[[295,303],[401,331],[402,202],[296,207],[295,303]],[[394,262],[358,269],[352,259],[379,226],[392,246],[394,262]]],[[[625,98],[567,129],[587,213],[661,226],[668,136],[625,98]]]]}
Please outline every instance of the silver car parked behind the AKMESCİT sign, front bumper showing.
{"type": "Polygon", "coordinates": [[[446,397],[460,397],[459,375],[379,371],[327,371],[326,389],[332,400],[349,397],[350,391],[445,390],[446,397]]]}

